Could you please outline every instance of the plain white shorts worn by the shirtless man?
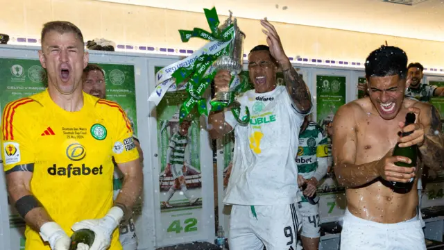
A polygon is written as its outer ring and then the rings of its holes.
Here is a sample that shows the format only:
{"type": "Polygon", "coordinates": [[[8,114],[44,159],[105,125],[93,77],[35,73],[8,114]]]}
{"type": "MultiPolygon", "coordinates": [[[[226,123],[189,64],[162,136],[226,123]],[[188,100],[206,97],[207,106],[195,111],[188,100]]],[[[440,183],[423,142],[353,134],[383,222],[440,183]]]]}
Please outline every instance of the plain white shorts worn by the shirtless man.
{"type": "Polygon", "coordinates": [[[352,215],[345,210],[341,250],[425,250],[424,233],[418,217],[407,222],[383,224],[352,215]]]}

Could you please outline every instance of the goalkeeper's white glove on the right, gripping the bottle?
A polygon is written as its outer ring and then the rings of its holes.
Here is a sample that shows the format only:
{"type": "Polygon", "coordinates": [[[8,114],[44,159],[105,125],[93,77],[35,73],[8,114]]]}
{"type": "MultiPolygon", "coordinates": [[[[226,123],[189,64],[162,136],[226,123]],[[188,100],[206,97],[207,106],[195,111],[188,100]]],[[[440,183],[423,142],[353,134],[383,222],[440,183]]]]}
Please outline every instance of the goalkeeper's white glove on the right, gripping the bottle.
{"type": "MultiPolygon", "coordinates": [[[[94,232],[95,238],[89,250],[105,250],[110,247],[111,235],[123,217],[123,210],[112,207],[101,219],[85,219],[71,226],[72,230],[89,229],[94,232]]],[[[79,248],[77,248],[79,249],[79,248]]],[[[88,250],[88,249],[82,249],[88,250]]]]}

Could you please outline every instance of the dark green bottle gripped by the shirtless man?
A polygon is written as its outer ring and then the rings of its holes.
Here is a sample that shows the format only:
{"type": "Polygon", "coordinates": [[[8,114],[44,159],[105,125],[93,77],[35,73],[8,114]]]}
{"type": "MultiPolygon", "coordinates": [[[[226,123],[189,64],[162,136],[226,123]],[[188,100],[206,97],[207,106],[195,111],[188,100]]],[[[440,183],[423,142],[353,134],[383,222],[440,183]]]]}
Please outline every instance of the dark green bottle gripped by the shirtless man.
{"type": "MultiPolygon", "coordinates": [[[[415,113],[407,113],[407,115],[405,116],[405,125],[404,126],[408,126],[409,124],[414,124],[415,123],[415,119],[416,119],[416,115],[415,113]]],[[[402,137],[410,135],[411,133],[413,133],[413,131],[411,132],[407,132],[407,133],[402,133],[402,137]]],[[[393,150],[393,156],[404,156],[407,157],[411,160],[411,163],[402,163],[402,162],[398,162],[395,163],[395,165],[400,166],[400,167],[416,167],[416,158],[418,156],[418,146],[416,144],[411,145],[410,147],[399,147],[398,146],[399,142],[396,144],[395,149],[393,150]]],[[[413,179],[411,178],[409,183],[400,183],[400,182],[395,182],[392,181],[392,185],[393,187],[395,187],[396,189],[400,189],[400,190],[410,190],[412,185],[413,185],[413,179]]]]}

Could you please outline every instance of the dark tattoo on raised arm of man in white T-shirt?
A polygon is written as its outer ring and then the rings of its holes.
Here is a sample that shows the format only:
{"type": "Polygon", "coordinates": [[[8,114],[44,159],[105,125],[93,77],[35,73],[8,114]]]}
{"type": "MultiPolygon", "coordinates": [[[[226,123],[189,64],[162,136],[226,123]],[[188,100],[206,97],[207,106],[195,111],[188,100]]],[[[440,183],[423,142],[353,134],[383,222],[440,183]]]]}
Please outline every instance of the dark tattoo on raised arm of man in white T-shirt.
{"type": "Polygon", "coordinates": [[[294,108],[301,114],[309,113],[312,105],[311,95],[304,80],[302,80],[302,77],[299,76],[293,67],[289,67],[283,73],[287,92],[295,104],[294,108]]]}

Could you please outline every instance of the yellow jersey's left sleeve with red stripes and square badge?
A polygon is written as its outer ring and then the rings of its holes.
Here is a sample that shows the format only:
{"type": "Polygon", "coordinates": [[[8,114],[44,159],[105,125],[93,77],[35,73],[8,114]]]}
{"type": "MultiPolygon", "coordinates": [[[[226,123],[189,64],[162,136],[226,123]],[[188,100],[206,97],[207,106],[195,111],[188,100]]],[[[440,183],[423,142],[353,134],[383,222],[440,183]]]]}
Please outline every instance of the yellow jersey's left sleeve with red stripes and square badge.
{"type": "Polygon", "coordinates": [[[3,169],[6,173],[33,171],[35,153],[31,126],[28,125],[32,121],[28,119],[27,112],[30,105],[28,103],[31,102],[33,99],[23,98],[8,103],[3,109],[0,144],[3,169]]]}

